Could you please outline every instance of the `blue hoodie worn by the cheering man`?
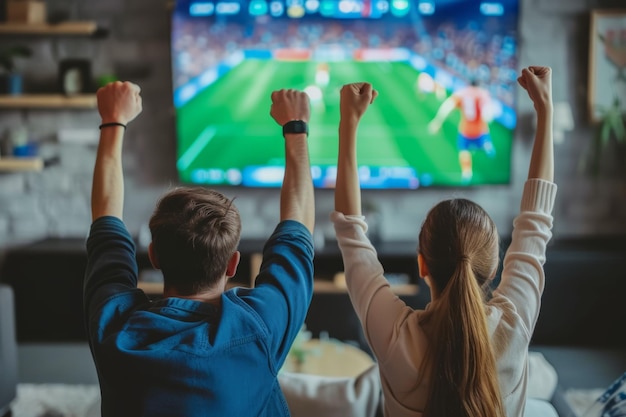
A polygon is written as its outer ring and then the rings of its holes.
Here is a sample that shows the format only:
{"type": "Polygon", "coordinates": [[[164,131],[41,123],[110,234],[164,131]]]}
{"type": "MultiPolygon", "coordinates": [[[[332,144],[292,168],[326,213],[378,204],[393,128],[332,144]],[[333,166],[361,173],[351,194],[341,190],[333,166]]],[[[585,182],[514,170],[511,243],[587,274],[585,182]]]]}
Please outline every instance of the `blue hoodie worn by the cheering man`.
{"type": "Polygon", "coordinates": [[[84,307],[102,416],[289,416],[277,373],[313,292],[313,241],[281,222],[263,250],[255,288],[221,306],[150,301],[137,288],[135,244],[115,217],[87,240],[84,307]]]}

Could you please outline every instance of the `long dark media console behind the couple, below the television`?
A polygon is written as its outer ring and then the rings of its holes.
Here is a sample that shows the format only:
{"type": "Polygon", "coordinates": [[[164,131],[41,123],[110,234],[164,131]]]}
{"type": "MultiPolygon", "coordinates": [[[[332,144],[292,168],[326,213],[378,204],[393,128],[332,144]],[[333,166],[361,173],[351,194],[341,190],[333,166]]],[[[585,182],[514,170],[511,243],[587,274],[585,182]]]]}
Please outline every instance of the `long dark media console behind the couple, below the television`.
{"type": "MultiPolygon", "coordinates": [[[[242,260],[234,278],[237,285],[249,285],[262,248],[262,241],[242,242],[242,260]]],[[[414,243],[389,242],[377,249],[389,277],[413,288],[398,295],[412,307],[423,308],[429,294],[418,279],[414,243]]],[[[140,270],[152,268],[145,250],[138,252],[137,259],[140,270]]],[[[15,293],[18,341],[85,340],[85,265],[82,239],[47,239],[4,253],[0,282],[13,287],[15,293]]],[[[317,251],[318,283],[332,283],[341,271],[343,263],[334,242],[317,251]]],[[[545,273],[534,344],[626,348],[626,333],[620,330],[620,323],[626,322],[626,238],[553,241],[548,246],[545,273]]],[[[314,294],[306,324],[314,335],[326,331],[330,337],[358,341],[367,350],[345,290],[321,286],[314,294]]]]}

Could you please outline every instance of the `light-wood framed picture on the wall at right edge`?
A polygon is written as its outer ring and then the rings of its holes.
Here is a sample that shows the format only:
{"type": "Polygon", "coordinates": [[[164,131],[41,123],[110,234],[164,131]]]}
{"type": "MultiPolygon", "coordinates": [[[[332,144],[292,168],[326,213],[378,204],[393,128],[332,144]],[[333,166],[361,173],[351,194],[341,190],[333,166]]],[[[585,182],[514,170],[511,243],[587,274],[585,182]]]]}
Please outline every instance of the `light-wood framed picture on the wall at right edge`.
{"type": "Polygon", "coordinates": [[[613,106],[626,114],[626,9],[591,12],[589,55],[591,121],[613,106]]]}

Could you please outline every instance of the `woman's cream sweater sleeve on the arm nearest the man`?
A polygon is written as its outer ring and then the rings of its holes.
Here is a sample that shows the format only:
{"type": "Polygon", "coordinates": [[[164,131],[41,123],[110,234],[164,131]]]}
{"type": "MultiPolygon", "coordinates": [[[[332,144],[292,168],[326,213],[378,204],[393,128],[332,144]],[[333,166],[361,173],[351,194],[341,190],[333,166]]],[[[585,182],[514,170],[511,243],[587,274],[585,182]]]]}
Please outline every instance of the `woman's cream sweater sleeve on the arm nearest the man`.
{"type": "Polygon", "coordinates": [[[409,307],[392,291],[376,249],[366,236],[365,217],[333,212],[337,242],[343,258],[350,301],[365,337],[379,361],[384,362],[396,324],[409,307]]]}

